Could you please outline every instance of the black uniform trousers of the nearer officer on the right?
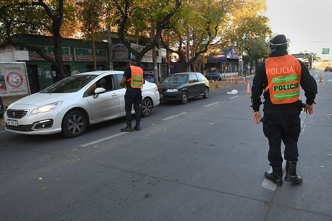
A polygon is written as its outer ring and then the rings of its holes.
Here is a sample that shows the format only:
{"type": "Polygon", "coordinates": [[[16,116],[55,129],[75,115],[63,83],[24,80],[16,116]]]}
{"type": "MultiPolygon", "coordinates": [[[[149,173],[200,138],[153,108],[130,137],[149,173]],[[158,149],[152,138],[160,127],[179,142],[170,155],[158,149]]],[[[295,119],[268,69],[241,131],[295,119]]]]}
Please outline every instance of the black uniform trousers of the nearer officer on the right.
{"type": "Polygon", "coordinates": [[[284,158],[289,161],[297,161],[297,140],[301,130],[300,112],[298,107],[272,110],[263,109],[264,116],[260,120],[263,123],[264,135],[269,139],[270,166],[281,167],[281,141],[285,144],[284,158]]]}

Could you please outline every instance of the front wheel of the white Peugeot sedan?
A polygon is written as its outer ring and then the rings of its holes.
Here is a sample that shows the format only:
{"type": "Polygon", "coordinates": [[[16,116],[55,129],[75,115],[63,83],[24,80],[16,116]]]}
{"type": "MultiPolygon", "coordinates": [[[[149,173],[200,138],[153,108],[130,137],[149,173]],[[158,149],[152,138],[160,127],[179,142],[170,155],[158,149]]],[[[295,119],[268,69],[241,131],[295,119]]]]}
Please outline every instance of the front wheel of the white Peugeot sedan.
{"type": "Polygon", "coordinates": [[[86,118],[80,111],[69,111],[62,119],[62,135],[65,137],[81,136],[86,129],[86,118]]]}

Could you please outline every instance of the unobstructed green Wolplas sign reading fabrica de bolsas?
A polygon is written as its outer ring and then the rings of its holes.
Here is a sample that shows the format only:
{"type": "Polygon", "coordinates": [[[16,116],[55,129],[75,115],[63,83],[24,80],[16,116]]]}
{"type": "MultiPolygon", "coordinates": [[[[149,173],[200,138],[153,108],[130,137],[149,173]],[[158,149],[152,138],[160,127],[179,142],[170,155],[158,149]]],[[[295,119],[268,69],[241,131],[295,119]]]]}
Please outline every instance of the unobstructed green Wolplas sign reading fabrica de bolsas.
{"type": "MultiPolygon", "coordinates": [[[[107,62],[107,50],[96,49],[96,61],[107,62]]],[[[91,61],[93,62],[92,48],[78,48],[74,47],[74,61],[91,61]]]]}

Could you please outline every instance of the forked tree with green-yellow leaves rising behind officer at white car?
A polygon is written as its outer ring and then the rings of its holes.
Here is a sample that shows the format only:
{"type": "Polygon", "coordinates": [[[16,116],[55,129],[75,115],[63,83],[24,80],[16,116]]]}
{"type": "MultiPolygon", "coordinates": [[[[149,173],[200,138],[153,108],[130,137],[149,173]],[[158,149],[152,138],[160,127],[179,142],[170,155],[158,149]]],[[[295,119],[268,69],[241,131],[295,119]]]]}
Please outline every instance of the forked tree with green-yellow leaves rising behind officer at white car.
{"type": "Polygon", "coordinates": [[[170,19],[180,10],[182,0],[113,0],[107,4],[108,23],[118,32],[121,42],[128,51],[135,55],[137,64],[142,57],[158,43],[163,29],[167,29],[170,19]],[[134,49],[125,36],[150,37],[151,23],[154,23],[155,33],[151,43],[142,48],[134,49]]]}

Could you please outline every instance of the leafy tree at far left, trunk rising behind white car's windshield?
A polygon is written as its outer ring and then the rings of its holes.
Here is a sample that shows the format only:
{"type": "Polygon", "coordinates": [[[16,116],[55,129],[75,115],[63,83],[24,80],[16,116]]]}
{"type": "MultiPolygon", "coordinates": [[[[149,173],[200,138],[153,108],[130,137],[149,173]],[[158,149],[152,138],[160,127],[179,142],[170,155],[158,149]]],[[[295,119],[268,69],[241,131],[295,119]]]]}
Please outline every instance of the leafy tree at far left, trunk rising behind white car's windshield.
{"type": "Polygon", "coordinates": [[[0,39],[7,40],[13,46],[36,51],[51,62],[62,77],[69,76],[61,56],[61,27],[64,21],[68,25],[73,24],[75,8],[64,0],[2,0],[1,3],[0,39]],[[18,37],[25,34],[52,36],[54,58],[42,53],[38,47],[19,42],[18,37]]]}

